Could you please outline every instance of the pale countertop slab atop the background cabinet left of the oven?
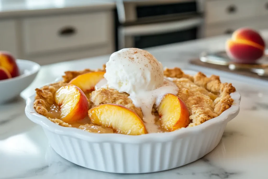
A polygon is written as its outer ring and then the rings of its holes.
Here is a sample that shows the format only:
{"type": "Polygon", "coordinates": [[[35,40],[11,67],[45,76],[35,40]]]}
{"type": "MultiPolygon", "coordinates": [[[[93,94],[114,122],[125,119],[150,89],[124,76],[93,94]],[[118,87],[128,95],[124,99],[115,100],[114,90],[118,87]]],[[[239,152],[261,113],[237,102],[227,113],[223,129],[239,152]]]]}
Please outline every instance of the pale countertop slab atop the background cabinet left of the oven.
{"type": "Polygon", "coordinates": [[[113,0],[0,0],[0,17],[113,9],[113,0]]]}

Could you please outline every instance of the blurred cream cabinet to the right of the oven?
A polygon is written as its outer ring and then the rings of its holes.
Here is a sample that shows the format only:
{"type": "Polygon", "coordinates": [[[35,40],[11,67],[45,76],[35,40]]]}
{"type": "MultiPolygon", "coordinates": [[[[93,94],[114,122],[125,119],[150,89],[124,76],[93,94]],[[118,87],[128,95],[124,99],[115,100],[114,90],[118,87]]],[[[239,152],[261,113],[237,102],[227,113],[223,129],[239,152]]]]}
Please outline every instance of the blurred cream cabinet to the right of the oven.
{"type": "Polygon", "coordinates": [[[207,0],[205,36],[232,34],[241,27],[268,28],[268,0],[207,0]]]}

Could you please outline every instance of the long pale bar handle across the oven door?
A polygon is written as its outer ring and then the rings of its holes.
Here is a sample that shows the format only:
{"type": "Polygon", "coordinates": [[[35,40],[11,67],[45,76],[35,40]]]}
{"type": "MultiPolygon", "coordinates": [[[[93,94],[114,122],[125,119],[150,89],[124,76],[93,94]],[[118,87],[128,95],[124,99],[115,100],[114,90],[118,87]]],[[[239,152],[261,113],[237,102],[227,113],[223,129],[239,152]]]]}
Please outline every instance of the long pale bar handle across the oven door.
{"type": "Polygon", "coordinates": [[[185,30],[192,27],[198,27],[204,23],[202,17],[194,17],[191,19],[172,21],[158,24],[143,24],[120,27],[120,36],[134,36],[134,35],[151,35],[161,34],[179,30],[185,30]]]}

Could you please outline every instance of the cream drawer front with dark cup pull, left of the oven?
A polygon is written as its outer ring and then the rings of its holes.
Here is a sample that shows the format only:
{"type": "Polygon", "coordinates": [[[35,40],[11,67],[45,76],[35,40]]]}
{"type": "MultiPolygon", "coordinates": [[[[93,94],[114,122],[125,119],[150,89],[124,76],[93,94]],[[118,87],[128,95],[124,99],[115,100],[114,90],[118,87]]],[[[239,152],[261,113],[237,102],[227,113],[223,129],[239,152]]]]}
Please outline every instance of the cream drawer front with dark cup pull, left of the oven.
{"type": "Polygon", "coordinates": [[[23,19],[24,53],[93,46],[110,40],[110,12],[23,19]]]}

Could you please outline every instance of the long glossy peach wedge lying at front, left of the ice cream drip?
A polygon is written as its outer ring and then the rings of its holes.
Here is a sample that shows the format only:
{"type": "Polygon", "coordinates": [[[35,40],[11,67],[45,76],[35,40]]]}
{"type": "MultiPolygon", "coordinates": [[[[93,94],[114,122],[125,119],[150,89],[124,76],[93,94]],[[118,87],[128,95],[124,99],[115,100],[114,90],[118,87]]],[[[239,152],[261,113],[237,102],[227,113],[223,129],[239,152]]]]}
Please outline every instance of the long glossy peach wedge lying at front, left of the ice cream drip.
{"type": "Polygon", "coordinates": [[[131,109],[118,104],[101,104],[88,111],[92,123],[110,127],[116,133],[141,135],[146,128],[140,117],[131,109]]]}

